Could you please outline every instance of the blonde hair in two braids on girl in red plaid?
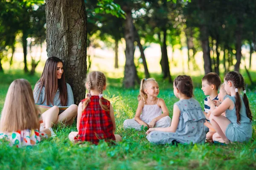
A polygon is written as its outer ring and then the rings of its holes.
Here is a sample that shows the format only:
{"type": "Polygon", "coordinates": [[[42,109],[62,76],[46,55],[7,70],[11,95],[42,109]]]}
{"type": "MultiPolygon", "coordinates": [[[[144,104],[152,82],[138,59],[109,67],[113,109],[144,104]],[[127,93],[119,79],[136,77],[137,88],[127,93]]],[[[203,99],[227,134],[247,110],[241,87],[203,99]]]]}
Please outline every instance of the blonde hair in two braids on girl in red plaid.
{"type": "MultiPolygon", "coordinates": [[[[104,87],[104,85],[106,85],[106,77],[100,71],[92,71],[87,75],[85,83],[87,83],[87,85],[88,85],[88,89],[87,89],[88,90],[88,94],[87,94],[88,97],[82,104],[83,111],[86,108],[86,106],[88,105],[88,103],[90,102],[90,97],[91,97],[90,90],[95,90],[96,89],[96,90],[99,91],[99,94],[102,95],[103,87],[104,87]]],[[[99,105],[101,106],[101,108],[104,111],[109,111],[109,106],[104,105],[102,103],[102,100],[103,100],[102,97],[100,97],[99,98],[99,105]]]]}

